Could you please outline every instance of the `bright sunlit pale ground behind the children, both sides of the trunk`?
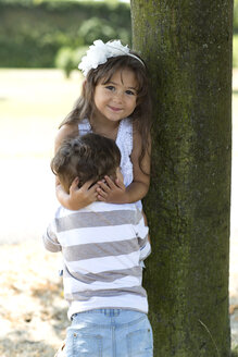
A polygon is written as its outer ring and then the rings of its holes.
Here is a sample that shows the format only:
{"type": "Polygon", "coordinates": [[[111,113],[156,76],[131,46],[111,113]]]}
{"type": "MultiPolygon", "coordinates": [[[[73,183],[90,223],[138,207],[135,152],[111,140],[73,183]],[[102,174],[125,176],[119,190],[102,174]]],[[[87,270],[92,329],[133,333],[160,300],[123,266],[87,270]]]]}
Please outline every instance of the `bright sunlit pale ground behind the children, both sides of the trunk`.
{"type": "MultiPolygon", "coordinates": [[[[40,239],[57,200],[49,163],[57,127],[80,91],[75,72],[0,70],[1,243],[40,239]]],[[[238,304],[238,71],[233,95],[230,301],[238,304]]],[[[238,305],[237,305],[238,306],[238,305]]],[[[238,319],[234,316],[233,325],[238,319]]],[[[235,336],[234,336],[235,337],[235,336]]],[[[238,343],[238,334],[236,336],[238,343]]]]}

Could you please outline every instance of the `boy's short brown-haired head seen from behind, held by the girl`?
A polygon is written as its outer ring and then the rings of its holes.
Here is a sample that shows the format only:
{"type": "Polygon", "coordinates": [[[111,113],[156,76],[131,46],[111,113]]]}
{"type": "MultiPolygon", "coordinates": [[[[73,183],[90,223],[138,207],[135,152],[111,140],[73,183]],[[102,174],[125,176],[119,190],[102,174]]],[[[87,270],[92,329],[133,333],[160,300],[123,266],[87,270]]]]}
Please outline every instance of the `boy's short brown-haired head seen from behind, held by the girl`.
{"type": "Polygon", "coordinates": [[[115,178],[120,161],[120,149],[112,139],[90,133],[65,139],[50,165],[68,193],[75,177],[79,178],[79,187],[87,181],[102,180],[104,175],[115,178]]]}

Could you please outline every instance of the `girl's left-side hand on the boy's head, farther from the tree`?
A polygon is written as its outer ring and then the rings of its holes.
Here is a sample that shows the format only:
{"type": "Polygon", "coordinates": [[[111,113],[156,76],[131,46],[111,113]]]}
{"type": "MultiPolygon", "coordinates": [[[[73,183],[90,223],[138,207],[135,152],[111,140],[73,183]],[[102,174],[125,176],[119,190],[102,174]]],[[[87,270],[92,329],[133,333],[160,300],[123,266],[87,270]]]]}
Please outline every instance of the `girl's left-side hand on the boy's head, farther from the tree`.
{"type": "Polygon", "coordinates": [[[78,210],[80,208],[84,208],[97,200],[98,185],[95,184],[93,186],[91,186],[92,184],[93,181],[88,181],[80,188],[78,188],[78,177],[76,177],[70,187],[70,194],[66,194],[61,185],[58,186],[58,199],[60,200],[62,206],[70,210],[78,210]]]}

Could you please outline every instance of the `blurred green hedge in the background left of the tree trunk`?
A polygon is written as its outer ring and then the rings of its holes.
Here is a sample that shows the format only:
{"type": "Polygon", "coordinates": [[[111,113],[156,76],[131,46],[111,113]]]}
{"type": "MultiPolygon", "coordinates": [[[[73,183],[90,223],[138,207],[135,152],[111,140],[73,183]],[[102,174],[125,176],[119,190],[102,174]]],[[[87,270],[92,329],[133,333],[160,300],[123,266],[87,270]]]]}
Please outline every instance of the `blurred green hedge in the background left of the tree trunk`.
{"type": "Polygon", "coordinates": [[[1,67],[54,67],[67,57],[68,73],[70,53],[74,63],[97,38],[130,44],[130,9],[116,1],[0,0],[0,24],[1,67]]]}

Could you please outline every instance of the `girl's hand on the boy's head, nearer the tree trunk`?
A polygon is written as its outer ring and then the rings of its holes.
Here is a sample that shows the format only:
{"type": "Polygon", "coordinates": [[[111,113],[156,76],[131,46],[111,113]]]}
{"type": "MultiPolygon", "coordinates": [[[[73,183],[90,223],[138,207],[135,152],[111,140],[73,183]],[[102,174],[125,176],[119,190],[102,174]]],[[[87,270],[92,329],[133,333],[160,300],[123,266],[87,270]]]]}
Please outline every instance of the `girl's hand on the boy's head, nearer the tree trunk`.
{"type": "Polygon", "coordinates": [[[126,187],[118,178],[113,182],[109,176],[98,183],[98,200],[111,204],[124,204],[126,201],[126,187]]]}

